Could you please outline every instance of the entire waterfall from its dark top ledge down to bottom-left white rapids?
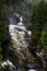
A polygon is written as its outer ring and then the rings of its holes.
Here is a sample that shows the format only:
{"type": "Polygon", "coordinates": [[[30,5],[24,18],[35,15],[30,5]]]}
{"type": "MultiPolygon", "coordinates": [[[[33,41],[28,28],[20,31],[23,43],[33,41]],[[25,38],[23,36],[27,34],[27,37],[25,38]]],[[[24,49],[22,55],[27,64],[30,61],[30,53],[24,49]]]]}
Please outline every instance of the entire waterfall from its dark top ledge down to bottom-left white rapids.
{"type": "MultiPolygon", "coordinates": [[[[22,67],[22,63],[23,63],[22,59],[25,60],[25,59],[31,57],[27,47],[30,46],[31,34],[32,34],[32,32],[26,28],[26,25],[23,22],[23,16],[22,15],[20,16],[20,14],[16,14],[16,13],[12,14],[12,16],[10,17],[9,34],[11,36],[11,42],[12,42],[12,47],[11,48],[14,49],[14,52],[19,57],[19,60],[20,60],[19,62],[21,63],[21,67],[22,67]]],[[[15,59],[13,59],[13,61],[15,59]]],[[[2,62],[2,68],[7,69],[7,67],[9,67],[9,71],[16,71],[16,67],[14,64],[8,59],[4,62],[2,62]]],[[[17,70],[19,71],[24,71],[20,67],[17,68],[17,70]]],[[[36,71],[36,70],[31,69],[28,71],[36,71]]]]}

